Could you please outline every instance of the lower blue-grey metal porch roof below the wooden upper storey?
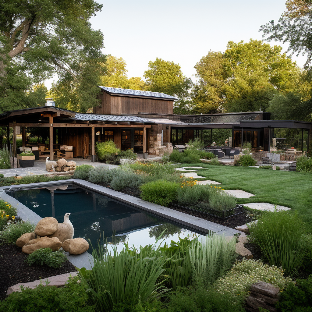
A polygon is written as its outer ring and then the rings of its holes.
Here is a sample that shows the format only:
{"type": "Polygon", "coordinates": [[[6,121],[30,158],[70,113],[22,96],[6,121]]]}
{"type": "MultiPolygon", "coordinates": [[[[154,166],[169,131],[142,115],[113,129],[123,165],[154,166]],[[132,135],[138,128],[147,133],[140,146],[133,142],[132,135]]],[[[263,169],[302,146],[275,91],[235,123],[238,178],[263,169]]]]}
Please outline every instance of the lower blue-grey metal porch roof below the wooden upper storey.
{"type": "Polygon", "coordinates": [[[89,114],[89,113],[76,113],[75,117],[72,117],[70,119],[84,120],[84,121],[120,121],[120,122],[154,123],[154,121],[151,121],[150,119],[136,117],[136,116],[102,115],[102,114],[89,114]]]}

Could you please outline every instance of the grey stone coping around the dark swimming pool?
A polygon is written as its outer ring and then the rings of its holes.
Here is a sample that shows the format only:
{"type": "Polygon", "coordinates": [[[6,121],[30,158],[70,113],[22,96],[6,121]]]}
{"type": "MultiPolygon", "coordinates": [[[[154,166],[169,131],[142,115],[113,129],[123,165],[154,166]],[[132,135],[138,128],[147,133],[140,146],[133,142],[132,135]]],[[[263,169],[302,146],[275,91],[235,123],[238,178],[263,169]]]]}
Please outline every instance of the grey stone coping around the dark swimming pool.
{"type": "MultiPolygon", "coordinates": [[[[73,183],[82,188],[89,189],[95,193],[99,193],[101,195],[113,198],[118,200],[119,202],[126,203],[128,205],[139,208],[142,211],[149,212],[154,214],[155,216],[161,217],[162,219],[167,219],[168,221],[173,221],[178,223],[179,225],[186,226],[192,228],[194,230],[198,230],[200,232],[208,233],[210,231],[216,232],[217,234],[225,235],[225,236],[233,236],[235,233],[243,232],[232,229],[230,227],[226,227],[211,221],[207,221],[198,217],[194,217],[188,215],[183,212],[179,212],[173,210],[168,207],[163,207],[151,202],[147,202],[143,199],[130,196],[110,188],[106,188],[104,186],[100,186],[82,179],[71,179],[71,180],[61,180],[61,181],[49,181],[49,182],[38,182],[38,183],[29,183],[29,184],[19,184],[12,186],[3,186],[0,187],[0,198],[4,199],[13,207],[17,208],[18,216],[23,220],[29,220],[32,223],[37,224],[42,218],[33,212],[30,208],[23,205],[21,202],[16,200],[14,197],[6,194],[8,191],[16,191],[16,190],[25,190],[29,188],[43,188],[50,185],[66,185],[73,183]],[[36,187],[34,187],[36,186],[36,187]]],[[[81,268],[85,267],[86,269],[91,269],[92,267],[92,256],[87,251],[81,255],[70,255],[69,261],[76,267],[81,268]]]]}

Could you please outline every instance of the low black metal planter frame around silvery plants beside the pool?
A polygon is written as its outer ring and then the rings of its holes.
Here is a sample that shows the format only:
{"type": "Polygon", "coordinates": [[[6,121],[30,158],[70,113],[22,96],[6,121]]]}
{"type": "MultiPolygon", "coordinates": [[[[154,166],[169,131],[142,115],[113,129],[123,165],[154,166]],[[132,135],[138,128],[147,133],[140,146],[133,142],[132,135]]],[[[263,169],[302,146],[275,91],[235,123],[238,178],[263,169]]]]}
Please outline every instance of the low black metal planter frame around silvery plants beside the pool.
{"type": "Polygon", "coordinates": [[[197,206],[193,204],[186,204],[184,202],[171,203],[171,205],[174,207],[179,207],[183,209],[200,212],[208,216],[217,217],[219,219],[227,219],[229,217],[233,217],[233,216],[243,213],[243,205],[236,205],[236,207],[233,209],[223,210],[223,211],[214,210],[214,209],[197,206]]]}

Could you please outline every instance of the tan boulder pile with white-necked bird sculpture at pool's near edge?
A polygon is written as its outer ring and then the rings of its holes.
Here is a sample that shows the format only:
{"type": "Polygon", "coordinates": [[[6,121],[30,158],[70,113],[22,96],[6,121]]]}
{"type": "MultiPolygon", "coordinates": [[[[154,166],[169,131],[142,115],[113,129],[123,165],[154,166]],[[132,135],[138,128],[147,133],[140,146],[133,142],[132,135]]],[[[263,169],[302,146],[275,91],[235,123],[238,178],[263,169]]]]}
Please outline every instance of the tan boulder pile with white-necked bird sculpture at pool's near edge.
{"type": "Polygon", "coordinates": [[[34,233],[23,234],[16,241],[22,252],[31,254],[40,248],[51,248],[53,251],[61,247],[71,255],[80,255],[89,249],[89,243],[83,238],[74,237],[74,227],[69,221],[70,213],[64,216],[64,222],[58,223],[53,217],[41,219],[34,233]]]}

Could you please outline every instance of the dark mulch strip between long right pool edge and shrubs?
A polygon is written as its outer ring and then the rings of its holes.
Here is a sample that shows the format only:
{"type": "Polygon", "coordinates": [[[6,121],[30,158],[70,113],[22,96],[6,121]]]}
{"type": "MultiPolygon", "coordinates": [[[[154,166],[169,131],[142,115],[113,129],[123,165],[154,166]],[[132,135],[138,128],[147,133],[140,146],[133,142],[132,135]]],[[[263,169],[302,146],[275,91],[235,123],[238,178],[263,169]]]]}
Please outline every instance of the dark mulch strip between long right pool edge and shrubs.
{"type": "MultiPolygon", "coordinates": [[[[100,183],[99,185],[104,186],[106,188],[110,188],[110,185],[108,183],[100,183]]],[[[141,194],[141,191],[136,188],[123,188],[122,190],[119,190],[119,192],[127,194],[127,195],[131,195],[137,198],[139,198],[141,194]]],[[[235,227],[238,227],[240,225],[243,225],[252,221],[252,219],[247,215],[248,211],[245,209],[243,209],[243,213],[223,220],[223,219],[219,219],[216,217],[207,216],[201,212],[195,212],[195,211],[191,211],[188,209],[178,208],[174,206],[169,206],[169,208],[176,210],[176,211],[187,213],[194,217],[198,217],[204,220],[215,222],[217,224],[224,225],[226,227],[231,227],[231,228],[235,228],[235,227]]]]}

